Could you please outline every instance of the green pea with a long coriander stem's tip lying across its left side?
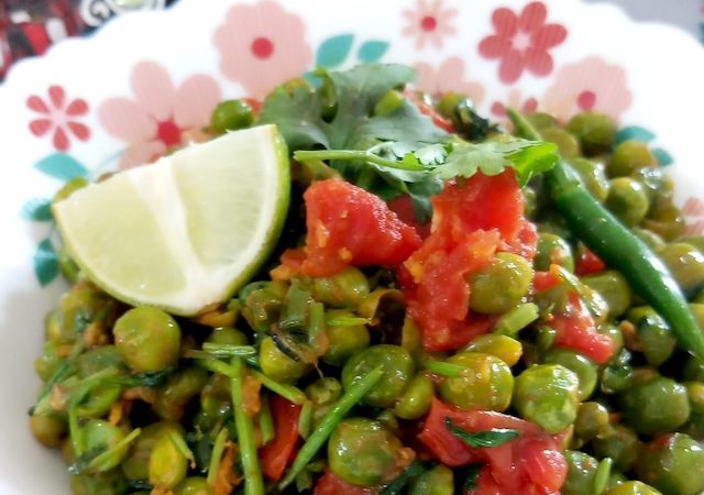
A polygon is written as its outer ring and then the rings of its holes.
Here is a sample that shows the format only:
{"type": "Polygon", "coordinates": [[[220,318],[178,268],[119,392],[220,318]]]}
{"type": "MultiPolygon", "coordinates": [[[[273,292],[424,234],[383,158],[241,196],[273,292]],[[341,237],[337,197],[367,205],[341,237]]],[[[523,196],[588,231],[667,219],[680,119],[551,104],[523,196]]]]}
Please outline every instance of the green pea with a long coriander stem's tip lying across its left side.
{"type": "Polygon", "coordinates": [[[349,389],[380,365],[384,374],[362,400],[369,406],[389,408],[400,398],[414,376],[414,360],[404,348],[380,344],[354,354],[342,369],[342,387],[349,389]]]}

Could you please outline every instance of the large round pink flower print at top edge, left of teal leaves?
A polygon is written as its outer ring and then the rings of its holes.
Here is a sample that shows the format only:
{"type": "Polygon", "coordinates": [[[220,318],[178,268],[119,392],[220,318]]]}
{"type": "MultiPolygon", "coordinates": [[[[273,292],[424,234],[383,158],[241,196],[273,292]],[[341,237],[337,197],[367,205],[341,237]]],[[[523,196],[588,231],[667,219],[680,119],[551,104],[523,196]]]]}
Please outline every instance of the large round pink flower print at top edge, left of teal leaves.
{"type": "Polygon", "coordinates": [[[300,76],[312,59],[302,20],[273,1],[237,4],[215,33],[220,70],[252,97],[300,76]]]}

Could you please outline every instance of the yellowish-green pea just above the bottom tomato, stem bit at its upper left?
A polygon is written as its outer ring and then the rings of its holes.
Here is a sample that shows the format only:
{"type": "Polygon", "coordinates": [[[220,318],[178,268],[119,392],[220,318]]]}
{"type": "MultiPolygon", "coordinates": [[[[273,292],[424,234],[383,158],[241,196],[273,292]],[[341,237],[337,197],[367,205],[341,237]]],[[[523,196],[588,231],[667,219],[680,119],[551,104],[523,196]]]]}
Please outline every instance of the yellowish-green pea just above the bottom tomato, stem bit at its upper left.
{"type": "Polygon", "coordinates": [[[466,369],[458,377],[446,378],[440,397],[464,409],[505,410],[510,405],[514,376],[498,358],[479,352],[461,352],[448,360],[466,369]]]}

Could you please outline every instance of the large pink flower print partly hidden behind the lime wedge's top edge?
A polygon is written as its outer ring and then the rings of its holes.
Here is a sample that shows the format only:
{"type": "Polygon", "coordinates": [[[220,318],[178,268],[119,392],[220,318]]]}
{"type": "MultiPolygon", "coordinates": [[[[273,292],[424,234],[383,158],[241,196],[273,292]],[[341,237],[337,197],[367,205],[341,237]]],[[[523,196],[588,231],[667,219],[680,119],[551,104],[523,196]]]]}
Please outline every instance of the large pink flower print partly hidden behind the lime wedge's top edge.
{"type": "Polygon", "coordinates": [[[190,76],[176,88],[155,62],[136,64],[130,82],[134,99],[109,98],[98,108],[106,131],[128,143],[121,168],[153,162],[168,148],[185,144],[194,130],[210,122],[220,101],[220,88],[212,77],[190,76]]]}

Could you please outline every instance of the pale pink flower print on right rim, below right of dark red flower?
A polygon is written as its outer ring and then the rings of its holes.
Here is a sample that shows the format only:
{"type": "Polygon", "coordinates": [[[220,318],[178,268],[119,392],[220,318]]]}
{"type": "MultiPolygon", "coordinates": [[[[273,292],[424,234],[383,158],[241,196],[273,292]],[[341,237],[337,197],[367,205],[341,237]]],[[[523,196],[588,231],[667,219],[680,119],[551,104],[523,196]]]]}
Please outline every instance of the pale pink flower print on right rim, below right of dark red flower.
{"type": "Polygon", "coordinates": [[[623,67],[591,56],[560,67],[541,107],[563,121],[584,110],[618,120],[630,107],[631,99],[623,67]]]}

